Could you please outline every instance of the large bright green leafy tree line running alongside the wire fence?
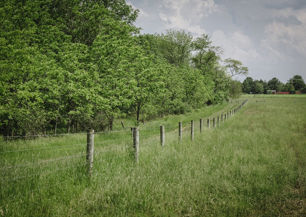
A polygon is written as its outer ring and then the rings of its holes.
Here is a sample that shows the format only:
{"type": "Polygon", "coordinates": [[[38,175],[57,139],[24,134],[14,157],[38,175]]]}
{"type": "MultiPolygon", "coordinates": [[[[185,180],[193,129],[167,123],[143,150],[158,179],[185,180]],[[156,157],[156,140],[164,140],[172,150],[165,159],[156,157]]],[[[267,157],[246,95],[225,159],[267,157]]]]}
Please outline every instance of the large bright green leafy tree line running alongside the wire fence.
{"type": "Polygon", "coordinates": [[[0,2],[0,134],[112,130],[241,93],[239,60],[203,34],[140,34],[124,0],[0,2]]]}

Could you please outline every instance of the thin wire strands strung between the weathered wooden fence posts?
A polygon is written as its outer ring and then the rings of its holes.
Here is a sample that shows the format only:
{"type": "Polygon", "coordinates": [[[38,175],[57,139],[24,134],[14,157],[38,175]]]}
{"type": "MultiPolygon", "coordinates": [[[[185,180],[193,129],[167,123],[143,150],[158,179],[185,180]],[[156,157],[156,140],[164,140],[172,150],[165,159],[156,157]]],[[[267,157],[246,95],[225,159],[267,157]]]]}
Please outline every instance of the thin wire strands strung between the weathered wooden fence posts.
{"type": "MultiPolygon", "coordinates": [[[[209,119],[210,128],[211,129],[218,128],[219,125],[221,125],[223,122],[225,122],[225,121],[229,120],[230,118],[232,118],[233,115],[236,114],[240,110],[241,109],[238,109],[235,113],[232,113],[233,110],[230,110],[231,111],[231,115],[230,116],[227,115],[227,114],[229,114],[230,111],[229,112],[225,112],[226,120],[225,120],[225,117],[223,117],[223,121],[221,120],[221,118],[219,118],[219,124],[218,124],[218,119],[215,118],[215,125],[216,125],[215,127],[213,126],[213,119],[209,119]]],[[[207,132],[207,128],[208,128],[207,127],[207,122],[205,123],[204,120],[205,119],[202,119],[202,132],[200,130],[200,121],[193,121],[193,124],[194,124],[194,127],[193,127],[193,136],[204,135],[203,131],[207,132]]],[[[186,135],[191,136],[191,122],[182,123],[181,125],[182,125],[182,129],[181,129],[182,130],[181,131],[182,135],[181,136],[182,137],[183,136],[186,137],[186,135]]],[[[179,141],[180,140],[179,133],[178,133],[179,132],[178,125],[165,126],[164,128],[165,129],[169,129],[169,128],[173,128],[173,127],[175,127],[175,129],[165,132],[165,135],[167,135],[165,137],[165,144],[172,143],[174,141],[179,141]]],[[[158,129],[160,129],[160,128],[140,129],[139,131],[153,131],[153,130],[158,130],[158,129]]],[[[121,132],[130,132],[130,130],[112,131],[112,132],[95,132],[94,134],[101,134],[101,133],[108,134],[108,133],[121,133],[121,132]]],[[[82,134],[88,134],[88,133],[56,134],[56,135],[32,135],[32,136],[41,136],[41,137],[44,137],[44,136],[64,136],[64,135],[65,136],[67,136],[67,135],[72,136],[72,135],[82,135],[82,134]]],[[[139,149],[139,152],[143,151],[141,149],[141,147],[152,147],[153,144],[159,144],[161,142],[159,136],[160,136],[160,134],[153,134],[153,135],[148,135],[148,136],[140,136],[139,137],[139,139],[140,139],[140,143],[139,143],[140,149],[139,149]]],[[[7,138],[7,137],[8,138],[14,138],[14,137],[30,137],[30,136],[5,136],[3,138],[7,138]]],[[[94,144],[112,143],[112,142],[126,141],[126,140],[132,141],[133,138],[101,141],[101,142],[95,142],[94,144]]],[[[11,151],[0,152],[0,154],[10,153],[10,152],[23,152],[23,151],[30,151],[30,150],[43,150],[43,149],[52,149],[52,148],[62,148],[62,147],[69,147],[69,146],[80,146],[80,145],[86,145],[86,144],[87,143],[80,143],[80,144],[72,144],[72,145],[65,145],[65,146],[52,146],[52,147],[43,147],[43,148],[35,148],[35,149],[11,150],[11,151]]],[[[110,161],[110,160],[118,159],[120,157],[134,155],[135,153],[133,153],[133,152],[129,152],[129,153],[125,153],[125,154],[118,154],[117,153],[118,155],[113,156],[113,157],[103,157],[101,155],[98,155],[98,154],[102,154],[102,153],[106,153],[106,152],[114,152],[113,154],[116,154],[115,151],[119,151],[119,150],[125,150],[126,151],[128,149],[132,149],[133,147],[134,147],[134,145],[128,145],[128,146],[121,146],[121,147],[118,147],[118,148],[113,148],[113,149],[108,149],[108,150],[96,151],[93,154],[95,156],[98,156],[101,159],[93,161],[92,163],[97,163],[97,162],[102,162],[102,161],[110,161]]],[[[69,157],[62,157],[62,158],[51,159],[51,160],[46,160],[46,161],[37,161],[37,162],[32,162],[32,163],[20,164],[20,165],[7,166],[7,167],[2,167],[0,169],[4,170],[4,169],[10,169],[10,168],[17,168],[17,167],[21,167],[21,166],[30,166],[30,165],[40,164],[40,163],[47,163],[47,162],[51,162],[51,161],[61,161],[61,160],[67,160],[67,159],[71,159],[71,158],[75,158],[75,157],[84,157],[84,156],[87,156],[87,154],[81,154],[81,155],[69,156],[69,157]]],[[[133,161],[136,162],[135,159],[133,161]]],[[[119,166],[123,166],[123,165],[126,165],[129,162],[133,162],[133,161],[126,161],[125,163],[123,163],[121,165],[117,165],[117,166],[118,167],[119,166]]],[[[83,163],[83,164],[79,164],[79,165],[73,165],[73,166],[68,166],[68,167],[65,167],[65,168],[58,168],[58,169],[49,170],[49,171],[45,171],[45,172],[38,172],[38,173],[35,173],[35,174],[20,176],[20,177],[16,177],[16,178],[12,178],[12,179],[6,179],[6,180],[0,181],[0,183],[9,182],[9,181],[12,181],[12,180],[17,180],[17,179],[23,179],[23,178],[27,178],[27,177],[31,177],[31,176],[35,176],[35,175],[47,174],[47,173],[56,172],[56,171],[60,171],[60,170],[68,169],[68,168],[74,168],[74,167],[83,166],[83,165],[87,165],[87,163],[83,163]]],[[[99,171],[97,171],[97,172],[95,172],[93,174],[94,175],[102,175],[102,174],[99,173],[99,171]]],[[[35,192],[35,191],[39,191],[39,190],[42,190],[42,189],[45,189],[45,188],[49,188],[49,187],[52,187],[52,186],[56,186],[56,185],[59,185],[59,184],[62,184],[62,183],[67,183],[67,182],[72,181],[72,180],[77,179],[77,178],[79,178],[79,177],[76,177],[76,178],[73,178],[73,179],[69,179],[69,180],[65,180],[63,182],[55,183],[53,185],[41,187],[41,188],[38,188],[36,190],[28,191],[26,193],[21,193],[21,194],[12,196],[12,197],[8,197],[8,198],[5,198],[5,200],[12,199],[12,198],[15,199],[15,198],[17,198],[19,196],[22,196],[24,194],[28,194],[28,193],[32,193],[32,192],[35,192]]]]}

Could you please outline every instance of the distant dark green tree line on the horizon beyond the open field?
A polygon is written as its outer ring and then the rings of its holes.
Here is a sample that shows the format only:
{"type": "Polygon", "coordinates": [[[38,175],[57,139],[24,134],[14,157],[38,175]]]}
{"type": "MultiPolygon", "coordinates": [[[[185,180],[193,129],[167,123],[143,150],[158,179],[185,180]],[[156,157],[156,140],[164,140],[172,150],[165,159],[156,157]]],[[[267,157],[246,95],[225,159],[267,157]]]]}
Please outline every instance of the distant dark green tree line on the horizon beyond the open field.
{"type": "Polygon", "coordinates": [[[305,93],[306,85],[301,75],[294,75],[292,78],[287,80],[284,84],[278,80],[278,78],[271,78],[269,81],[266,80],[253,80],[251,77],[247,77],[242,82],[242,92],[244,93],[263,93],[269,94],[270,90],[276,92],[290,92],[294,94],[296,92],[305,93]]]}

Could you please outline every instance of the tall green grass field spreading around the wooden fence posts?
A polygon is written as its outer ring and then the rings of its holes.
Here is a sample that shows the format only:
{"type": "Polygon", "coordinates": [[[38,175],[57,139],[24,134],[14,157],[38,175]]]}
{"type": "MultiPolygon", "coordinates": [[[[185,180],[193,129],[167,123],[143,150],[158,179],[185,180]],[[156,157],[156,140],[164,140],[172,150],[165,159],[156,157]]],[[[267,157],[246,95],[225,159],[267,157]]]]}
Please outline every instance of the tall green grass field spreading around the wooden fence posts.
{"type": "Polygon", "coordinates": [[[91,179],[85,134],[1,141],[0,216],[305,216],[306,96],[244,95],[239,102],[139,125],[138,164],[131,132],[116,121],[114,132],[95,134],[91,179]],[[207,129],[208,118],[246,99],[207,129]]]}

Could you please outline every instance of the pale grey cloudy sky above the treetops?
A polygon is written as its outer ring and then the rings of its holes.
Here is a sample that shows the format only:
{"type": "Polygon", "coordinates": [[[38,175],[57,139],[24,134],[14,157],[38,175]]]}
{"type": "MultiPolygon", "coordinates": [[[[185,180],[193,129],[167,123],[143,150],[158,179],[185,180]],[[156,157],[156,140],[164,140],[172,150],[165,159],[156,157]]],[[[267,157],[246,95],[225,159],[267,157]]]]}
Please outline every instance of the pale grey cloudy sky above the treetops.
{"type": "MultiPolygon", "coordinates": [[[[254,80],[293,75],[306,82],[305,0],[127,0],[139,9],[142,34],[166,29],[208,34],[225,50],[223,59],[240,60],[254,80]]],[[[241,81],[245,77],[238,77],[241,81]]]]}

